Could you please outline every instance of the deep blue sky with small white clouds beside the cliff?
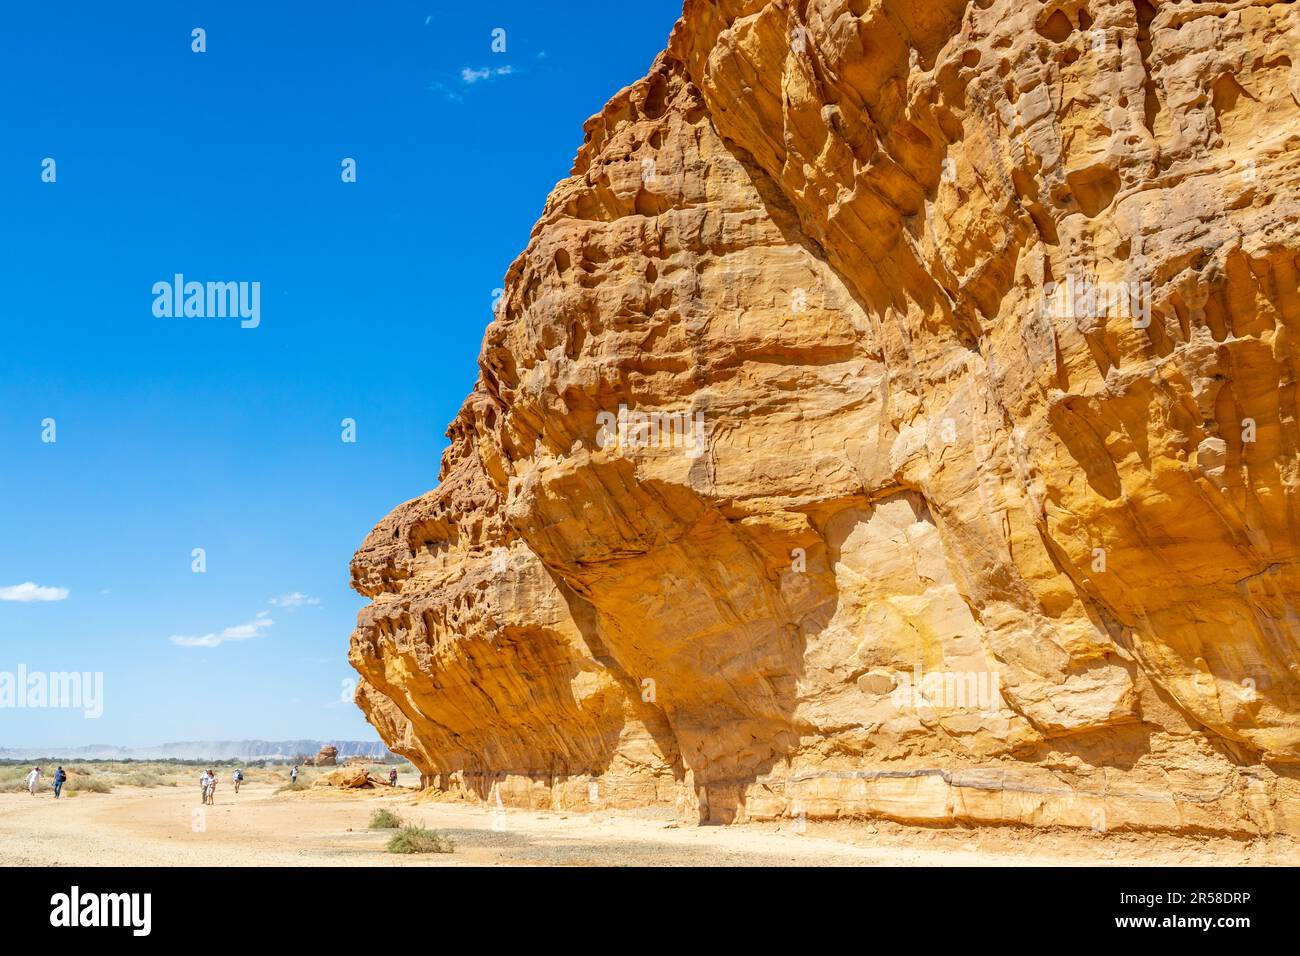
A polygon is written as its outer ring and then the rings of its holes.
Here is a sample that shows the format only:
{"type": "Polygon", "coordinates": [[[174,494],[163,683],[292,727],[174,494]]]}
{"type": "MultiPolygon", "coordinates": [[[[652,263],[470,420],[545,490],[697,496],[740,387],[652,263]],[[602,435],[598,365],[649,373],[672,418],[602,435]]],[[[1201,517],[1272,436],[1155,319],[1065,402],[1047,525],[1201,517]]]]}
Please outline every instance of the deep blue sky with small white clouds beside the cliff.
{"type": "Polygon", "coordinates": [[[681,9],[269,7],[5,13],[0,672],[103,671],[104,713],[0,709],[0,747],[374,739],[348,561],[437,483],[493,290],[681,9]],[[174,273],[260,282],[260,325],[155,317],[174,273]]]}

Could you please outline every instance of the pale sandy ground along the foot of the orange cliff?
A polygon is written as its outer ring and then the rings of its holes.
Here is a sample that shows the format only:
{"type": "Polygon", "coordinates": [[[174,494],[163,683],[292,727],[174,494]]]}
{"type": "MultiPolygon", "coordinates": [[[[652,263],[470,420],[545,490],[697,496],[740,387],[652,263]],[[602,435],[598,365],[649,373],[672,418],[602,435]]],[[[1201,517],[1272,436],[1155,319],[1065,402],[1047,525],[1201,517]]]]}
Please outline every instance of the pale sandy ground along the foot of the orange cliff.
{"type": "Polygon", "coordinates": [[[1145,835],[926,830],[892,825],[673,826],[649,814],[510,810],[493,829],[484,806],[416,804],[399,793],[283,793],[248,784],[218,791],[195,831],[190,787],[82,793],[0,793],[0,865],[474,866],[474,865],[1079,865],[1296,864],[1290,842],[1240,843],[1145,835]],[[456,852],[396,856],[365,825],[389,808],[456,842],[456,852]]]}

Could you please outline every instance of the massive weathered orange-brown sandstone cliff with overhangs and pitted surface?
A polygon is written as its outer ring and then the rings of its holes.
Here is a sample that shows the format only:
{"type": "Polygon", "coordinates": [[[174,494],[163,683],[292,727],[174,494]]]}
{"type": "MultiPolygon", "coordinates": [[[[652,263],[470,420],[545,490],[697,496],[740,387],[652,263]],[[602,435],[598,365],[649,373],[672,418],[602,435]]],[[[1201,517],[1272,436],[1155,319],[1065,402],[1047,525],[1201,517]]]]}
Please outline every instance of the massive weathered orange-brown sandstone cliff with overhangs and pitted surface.
{"type": "Polygon", "coordinates": [[[688,0],[352,562],[428,786],[1300,829],[1300,4],[688,0]]]}

